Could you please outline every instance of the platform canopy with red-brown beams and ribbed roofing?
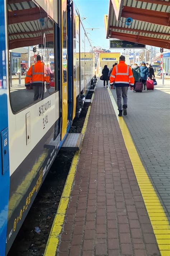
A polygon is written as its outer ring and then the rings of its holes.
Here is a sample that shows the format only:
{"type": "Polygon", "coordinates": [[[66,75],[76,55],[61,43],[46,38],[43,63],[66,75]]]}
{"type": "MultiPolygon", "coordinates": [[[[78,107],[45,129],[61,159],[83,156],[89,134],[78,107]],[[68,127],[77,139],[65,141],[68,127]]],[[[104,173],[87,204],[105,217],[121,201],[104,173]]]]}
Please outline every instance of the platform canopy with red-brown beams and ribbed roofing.
{"type": "Polygon", "coordinates": [[[107,39],[170,49],[170,0],[109,0],[104,22],[107,39]],[[133,19],[130,26],[128,17],[133,19]]]}

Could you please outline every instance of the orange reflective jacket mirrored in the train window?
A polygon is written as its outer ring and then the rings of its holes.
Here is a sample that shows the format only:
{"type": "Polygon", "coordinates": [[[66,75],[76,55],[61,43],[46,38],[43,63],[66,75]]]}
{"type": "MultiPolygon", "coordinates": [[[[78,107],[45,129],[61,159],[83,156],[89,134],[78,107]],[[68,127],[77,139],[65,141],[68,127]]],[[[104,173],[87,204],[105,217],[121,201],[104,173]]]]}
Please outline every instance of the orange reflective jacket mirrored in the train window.
{"type": "Polygon", "coordinates": [[[30,86],[30,82],[32,85],[42,85],[45,81],[49,85],[49,74],[44,63],[38,60],[36,64],[30,66],[25,77],[25,86],[30,86]]]}

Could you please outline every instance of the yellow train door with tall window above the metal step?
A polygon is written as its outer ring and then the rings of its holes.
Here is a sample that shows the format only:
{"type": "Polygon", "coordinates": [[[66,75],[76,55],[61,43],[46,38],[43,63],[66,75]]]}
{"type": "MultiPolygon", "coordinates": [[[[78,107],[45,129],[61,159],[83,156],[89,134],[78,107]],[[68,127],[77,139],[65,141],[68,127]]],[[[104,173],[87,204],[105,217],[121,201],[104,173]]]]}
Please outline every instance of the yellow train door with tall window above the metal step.
{"type": "Polygon", "coordinates": [[[61,50],[62,50],[62,81],[61,81],[61,140],[67,133],[68,120],[68,77],[67,77],[67,0],[61,0],[61,50]]]}

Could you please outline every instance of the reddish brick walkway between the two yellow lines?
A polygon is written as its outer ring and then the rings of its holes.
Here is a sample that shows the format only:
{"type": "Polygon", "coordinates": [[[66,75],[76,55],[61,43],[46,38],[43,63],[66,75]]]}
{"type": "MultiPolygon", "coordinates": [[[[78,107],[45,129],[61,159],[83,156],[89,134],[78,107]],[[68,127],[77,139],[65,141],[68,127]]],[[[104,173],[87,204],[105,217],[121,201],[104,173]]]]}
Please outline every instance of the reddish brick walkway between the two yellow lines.
{"type": "Polygon", "coordinates": [[[106,88],[96,86],[57,256],[159,256],[106,88]]]}

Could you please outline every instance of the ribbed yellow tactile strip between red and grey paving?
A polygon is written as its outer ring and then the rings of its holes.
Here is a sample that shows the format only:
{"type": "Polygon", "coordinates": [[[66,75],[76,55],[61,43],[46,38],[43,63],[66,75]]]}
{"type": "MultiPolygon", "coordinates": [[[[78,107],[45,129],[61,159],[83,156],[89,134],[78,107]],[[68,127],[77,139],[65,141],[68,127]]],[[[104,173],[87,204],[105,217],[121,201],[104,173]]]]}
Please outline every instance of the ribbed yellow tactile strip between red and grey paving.
{"type": "Polygon", "coordinates": [[[122,131],[124,143],[126,145],[129,158],[132,162],[133,170],[136,175],[138,186],[141,190],[143,201],[145,202],[146,210],[155,233],[161,256],[170,256],[170,225],[166,217],[166,213],[160,203],[159,198],[157,197],[150,179],[148,178],[146,170],[142,165],[126,122],[124,121],[123,117],[118,117],[117,104],[109,88],[108,93],[122,131]]]}

